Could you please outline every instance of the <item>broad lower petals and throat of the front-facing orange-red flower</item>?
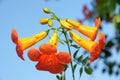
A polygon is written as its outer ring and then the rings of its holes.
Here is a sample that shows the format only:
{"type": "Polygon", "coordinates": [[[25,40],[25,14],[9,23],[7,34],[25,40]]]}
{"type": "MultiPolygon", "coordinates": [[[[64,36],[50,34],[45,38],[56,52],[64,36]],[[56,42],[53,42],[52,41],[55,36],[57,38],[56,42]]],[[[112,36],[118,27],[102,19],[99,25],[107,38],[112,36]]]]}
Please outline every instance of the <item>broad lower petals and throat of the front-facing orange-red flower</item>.
{"type": "Polygon", "coordinates": [[[38,64],[36,65],[36,69],[57,74],[61,73],[64,70],[64,67],[62,66],[62,64],[60,64],[55,54],[42,54],[39,58],[38,64]]]}

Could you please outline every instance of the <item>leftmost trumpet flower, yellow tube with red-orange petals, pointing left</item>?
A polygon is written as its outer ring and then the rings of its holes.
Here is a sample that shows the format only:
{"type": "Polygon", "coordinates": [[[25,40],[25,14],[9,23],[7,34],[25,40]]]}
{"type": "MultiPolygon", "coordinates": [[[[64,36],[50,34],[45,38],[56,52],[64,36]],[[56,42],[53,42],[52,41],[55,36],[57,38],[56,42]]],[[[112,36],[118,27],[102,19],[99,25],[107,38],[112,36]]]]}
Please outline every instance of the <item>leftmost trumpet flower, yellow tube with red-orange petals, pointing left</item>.
{"type": "Polygon", "coordinates": [[[15,29],[12,29],[12,33],[11,33],[12,41],[16,44],[17,55],[22,60],[24,60],[24,58],[23,58],[23,51],[25,49],[31,47],[32,45],[34,45],[38,41],[42,40],[46,36],[47,36],[47,31],[43,31],[43,32],[40,32],[40,33],[35,34],[33,36],[26,37],[26,38],[20,38],[19,39],[18,38],[18,34],[17,34],[15,29]]]}

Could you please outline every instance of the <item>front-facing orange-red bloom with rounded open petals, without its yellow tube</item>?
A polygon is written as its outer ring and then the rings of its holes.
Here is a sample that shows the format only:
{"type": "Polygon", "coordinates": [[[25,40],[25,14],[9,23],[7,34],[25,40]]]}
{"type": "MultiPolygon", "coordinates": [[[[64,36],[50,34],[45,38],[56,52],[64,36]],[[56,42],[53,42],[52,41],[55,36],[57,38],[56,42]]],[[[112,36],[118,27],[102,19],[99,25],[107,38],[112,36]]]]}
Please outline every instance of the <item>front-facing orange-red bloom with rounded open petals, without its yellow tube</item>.
{"type": "Polygon", "coordinates": [[[42,44],[39,50],[32,48],[28,51],[28,57],[32,61],[38,61],[37,70],[49,71],[57,74],[64,71],[63,64],[71,62],[71,56],[67,52],[57,53],[55,45],[49,43],[42,44]]]}

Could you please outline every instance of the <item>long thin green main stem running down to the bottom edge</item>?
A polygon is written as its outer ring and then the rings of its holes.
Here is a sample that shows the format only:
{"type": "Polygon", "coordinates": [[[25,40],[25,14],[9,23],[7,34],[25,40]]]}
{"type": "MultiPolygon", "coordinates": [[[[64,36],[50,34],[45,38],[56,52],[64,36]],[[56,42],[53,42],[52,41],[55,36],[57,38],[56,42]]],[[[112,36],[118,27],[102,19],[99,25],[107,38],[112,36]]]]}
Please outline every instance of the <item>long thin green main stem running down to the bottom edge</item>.
{"type": "MultiPolygon", "coordinates": [[[[63,34],[64,34],[65,39],[66,39],[68,51],[69,51],[69,53],[70,53],[70,55],[71,55],[71,49],[70,49],[69,40],[68,40],[68,38],[67,38],[67,33],[65,32],[64,29],[63,29],[63,34]]],[[[73,77],[73,80],[75,80],[75,75],[74,75],[74,71],[73,71],[73,63],[71,62],[70,65],[71,65],[71,70],[72,70],[72,77],[73,77]]]]}

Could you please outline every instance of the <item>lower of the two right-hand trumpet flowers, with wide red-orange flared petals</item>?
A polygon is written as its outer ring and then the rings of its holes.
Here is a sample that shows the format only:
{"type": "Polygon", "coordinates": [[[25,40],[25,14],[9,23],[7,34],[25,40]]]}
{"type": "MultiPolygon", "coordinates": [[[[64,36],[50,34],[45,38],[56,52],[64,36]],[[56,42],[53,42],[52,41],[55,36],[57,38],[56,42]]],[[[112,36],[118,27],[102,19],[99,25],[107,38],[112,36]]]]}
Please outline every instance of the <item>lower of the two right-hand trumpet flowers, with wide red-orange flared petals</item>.
{"type": "Polygon", "coordinates": [[[86,40],[74,32],[70,32],[70,36],[76,43],[78,43],[81,47],[90,52],[91,58],[88,61],[89,63],[93,62],[100,56],[101,49],[105,45],[105,36],[103,35],[102,32],[100,32],[98,36],[99,38],[98,42],[86,40]]]}

